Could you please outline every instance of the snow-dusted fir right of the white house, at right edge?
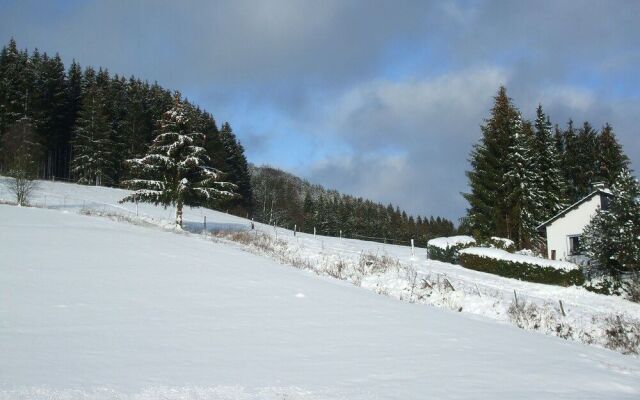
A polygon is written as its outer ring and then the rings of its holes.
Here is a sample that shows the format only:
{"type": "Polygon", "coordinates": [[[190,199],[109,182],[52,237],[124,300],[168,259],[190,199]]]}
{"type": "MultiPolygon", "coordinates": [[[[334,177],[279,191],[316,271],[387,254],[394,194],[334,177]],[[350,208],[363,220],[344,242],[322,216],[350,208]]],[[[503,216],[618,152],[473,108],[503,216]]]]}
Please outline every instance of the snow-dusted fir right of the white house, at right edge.
{"type": "Polygon", "coordinates": [[[640,186],[623,170],[611,187],[611,203],[585,228],[587,255],[616,274],[640,268],[640,186]]]}

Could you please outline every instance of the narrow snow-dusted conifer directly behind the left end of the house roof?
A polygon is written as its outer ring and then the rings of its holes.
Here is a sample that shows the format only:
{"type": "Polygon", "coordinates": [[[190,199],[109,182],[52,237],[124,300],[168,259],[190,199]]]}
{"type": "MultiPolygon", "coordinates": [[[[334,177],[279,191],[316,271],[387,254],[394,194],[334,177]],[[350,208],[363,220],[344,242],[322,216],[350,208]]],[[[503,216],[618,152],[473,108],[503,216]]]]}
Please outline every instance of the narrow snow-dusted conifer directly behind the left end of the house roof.
{"type": "Polygon", "coordinates": [[[557,143],[551,133],[551,123],[538,105],[535,120],[535,136],[532,142],[535,158],[534,171],[539,174],[540,189],[544,193],[541,204],[538,205],[537,222],[540,223],[562,210],[566,184],[560,169],[561,156],[557,151],[557,143]]]}

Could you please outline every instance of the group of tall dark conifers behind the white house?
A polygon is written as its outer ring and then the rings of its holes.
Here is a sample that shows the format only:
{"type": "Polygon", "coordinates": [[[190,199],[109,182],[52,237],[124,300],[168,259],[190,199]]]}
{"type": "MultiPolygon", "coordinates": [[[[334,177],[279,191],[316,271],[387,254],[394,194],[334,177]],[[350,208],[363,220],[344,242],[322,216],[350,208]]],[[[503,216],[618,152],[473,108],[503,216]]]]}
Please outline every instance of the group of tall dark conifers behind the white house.
{"type": "Polygon", "coordinates": [[[482,138],[470,157],[470,193],[461,229],[479,238],[500,236],[518,247],[539,247],[539,224],[593,189],[613,185],[629,159],[613,128],[589,122],[575,128],[552,125],[542,106],[534,121],[523,120],[501,87],[482,138]]]}

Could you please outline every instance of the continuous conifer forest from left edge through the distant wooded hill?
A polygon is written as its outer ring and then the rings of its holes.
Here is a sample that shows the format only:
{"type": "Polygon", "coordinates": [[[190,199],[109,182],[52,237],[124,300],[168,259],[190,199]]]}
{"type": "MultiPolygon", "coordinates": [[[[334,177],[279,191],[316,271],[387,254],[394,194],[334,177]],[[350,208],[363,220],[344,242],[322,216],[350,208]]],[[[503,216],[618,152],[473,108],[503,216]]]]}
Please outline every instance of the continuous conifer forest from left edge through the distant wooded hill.
{"type": "MultiPolygon", "coordinates": [[[[456,232],[442,217],[413,217],[391,204],[326,190],[274,168],[250,168],[229,122],[218,126],[209,112],[181,102],[190,116],[188,129],[204,135],[209,167],[235,185],[236,196],[211,207],[305,232],[315,228],[323,235],[390,243],[414,239],[426,245],[456,232]]],[[[127,186],[135,178],[127,160],[145,156],[172,106],[171,90],[142,78],[83,68],[75,60],[67,68],[58,54],[21,50],[14,39],[0,53],[0,146],[16,127],[33,130],[39,179],[127,186]]],[[[0,157],[0,173],[4,169],[0,157]]]]}

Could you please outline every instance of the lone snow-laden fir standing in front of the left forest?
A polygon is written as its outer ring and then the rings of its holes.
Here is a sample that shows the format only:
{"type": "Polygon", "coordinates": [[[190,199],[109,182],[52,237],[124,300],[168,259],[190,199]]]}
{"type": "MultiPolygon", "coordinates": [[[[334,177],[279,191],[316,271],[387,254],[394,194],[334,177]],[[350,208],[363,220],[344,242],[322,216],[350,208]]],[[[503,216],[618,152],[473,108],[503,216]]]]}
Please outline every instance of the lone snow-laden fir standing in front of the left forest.
{"type": "Polygon", "coordinates": [[[122,202],[143,201],[176,207],[176,225],[182,227],[185,205],[211,205],[234,196],[235,185],[221,181],[222,172],[209,166],[205,136],[192,132],[192,113],[178,92],[174,105],[159,121],[159,131],[142,158],[127,160],[135,176],[123,182],[134,192],[122,202]]]}

